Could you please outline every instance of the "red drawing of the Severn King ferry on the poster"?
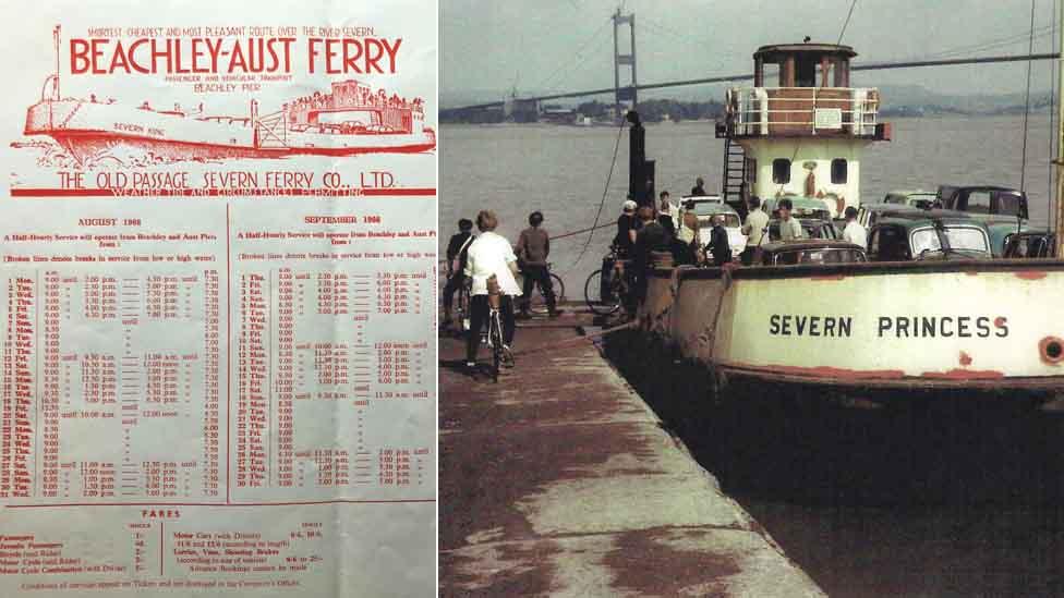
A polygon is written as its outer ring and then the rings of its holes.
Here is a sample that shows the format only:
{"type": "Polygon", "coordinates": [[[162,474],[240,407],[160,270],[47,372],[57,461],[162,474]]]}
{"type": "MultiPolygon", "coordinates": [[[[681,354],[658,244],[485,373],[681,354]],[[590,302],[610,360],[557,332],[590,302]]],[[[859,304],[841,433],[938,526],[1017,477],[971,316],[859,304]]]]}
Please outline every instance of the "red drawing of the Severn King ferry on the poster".
{"type": "Polygon", "coordinates": [[[172,161],[410,154],[436,147],[421,98],[389,96],[355,80],[334,82],[329,93],[297,98],[268,114],[251,100],[246,117],[210,115],[203,105],[160,110],[147,101],[131,106],[95,95],[62,98],[58,60],[40,101],[26,113],[24,133],[56,139],[78,163],[116,150],[172,161]]]}

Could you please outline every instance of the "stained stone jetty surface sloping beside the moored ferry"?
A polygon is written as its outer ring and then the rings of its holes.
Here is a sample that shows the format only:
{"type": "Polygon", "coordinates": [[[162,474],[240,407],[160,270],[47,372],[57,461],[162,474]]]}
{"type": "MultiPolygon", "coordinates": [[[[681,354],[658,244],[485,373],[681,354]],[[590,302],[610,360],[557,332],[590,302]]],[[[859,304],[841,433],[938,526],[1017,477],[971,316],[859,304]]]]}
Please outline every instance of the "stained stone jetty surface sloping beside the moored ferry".
{"type": "Polygon", "coordinates": [[[822,596],[596,347],[520,354],[576,335],[522,326],[497,385],[440,340],[440,595],[822,596]]]}

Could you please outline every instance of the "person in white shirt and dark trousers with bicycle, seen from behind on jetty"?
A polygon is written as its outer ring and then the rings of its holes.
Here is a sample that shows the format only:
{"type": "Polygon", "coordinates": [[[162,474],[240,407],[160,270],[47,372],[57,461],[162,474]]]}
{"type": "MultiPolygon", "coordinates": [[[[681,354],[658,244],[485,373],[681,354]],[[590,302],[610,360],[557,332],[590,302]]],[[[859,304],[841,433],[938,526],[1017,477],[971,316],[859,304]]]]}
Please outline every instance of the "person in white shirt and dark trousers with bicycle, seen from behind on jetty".
{"type": "Polygon", "coordinates": [[[476,350],[481,344],[481,328],[487,324],[491,308],[487,304],[487,279],[493,274],[498,280],[499,290],[503,293],[499,310],[503,316],[503,343],[507,363],[511,366],[509,357],[510,344],[513,342],[516,329],[513,319],[513,297],[521,295],[521,289],[517,285],[513,274],[517,272],[517,256],[513,255],[513,247],[505,236],[495,233],[498,227],[498,218],[495,212],[482,210],[476,215],[476,227],[483,234],[469,246],[466,258],[466,276],[473,281],[473,289],[470,293],[470,328],[469,337],[466,339],[466,366],[476,367],[476,350]]]}

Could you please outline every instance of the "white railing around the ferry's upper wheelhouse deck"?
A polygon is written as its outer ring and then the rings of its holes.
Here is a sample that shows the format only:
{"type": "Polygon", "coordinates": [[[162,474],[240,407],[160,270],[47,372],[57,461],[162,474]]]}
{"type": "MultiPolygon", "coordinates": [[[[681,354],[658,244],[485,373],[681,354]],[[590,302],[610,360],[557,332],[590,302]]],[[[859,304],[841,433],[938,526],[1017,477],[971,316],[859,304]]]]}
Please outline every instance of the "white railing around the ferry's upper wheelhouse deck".
{"type": "Polygon", "coordinates": [[[734,87],[726,96],[735,136],[874,137],[879,90],[869,87],[734,87]]]}

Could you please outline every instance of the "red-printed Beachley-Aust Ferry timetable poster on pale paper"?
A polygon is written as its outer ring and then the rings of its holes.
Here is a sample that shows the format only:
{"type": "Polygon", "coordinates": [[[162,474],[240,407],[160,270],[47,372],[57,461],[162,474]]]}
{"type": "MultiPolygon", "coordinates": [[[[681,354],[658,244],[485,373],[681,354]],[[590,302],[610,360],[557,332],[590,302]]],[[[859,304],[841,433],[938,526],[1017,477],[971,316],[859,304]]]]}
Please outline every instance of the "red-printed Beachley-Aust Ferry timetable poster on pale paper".
{"type": "Polygon", "coordinates": [[[0,596],[435,584],[435,2],[5,3],[0,596]]]}

